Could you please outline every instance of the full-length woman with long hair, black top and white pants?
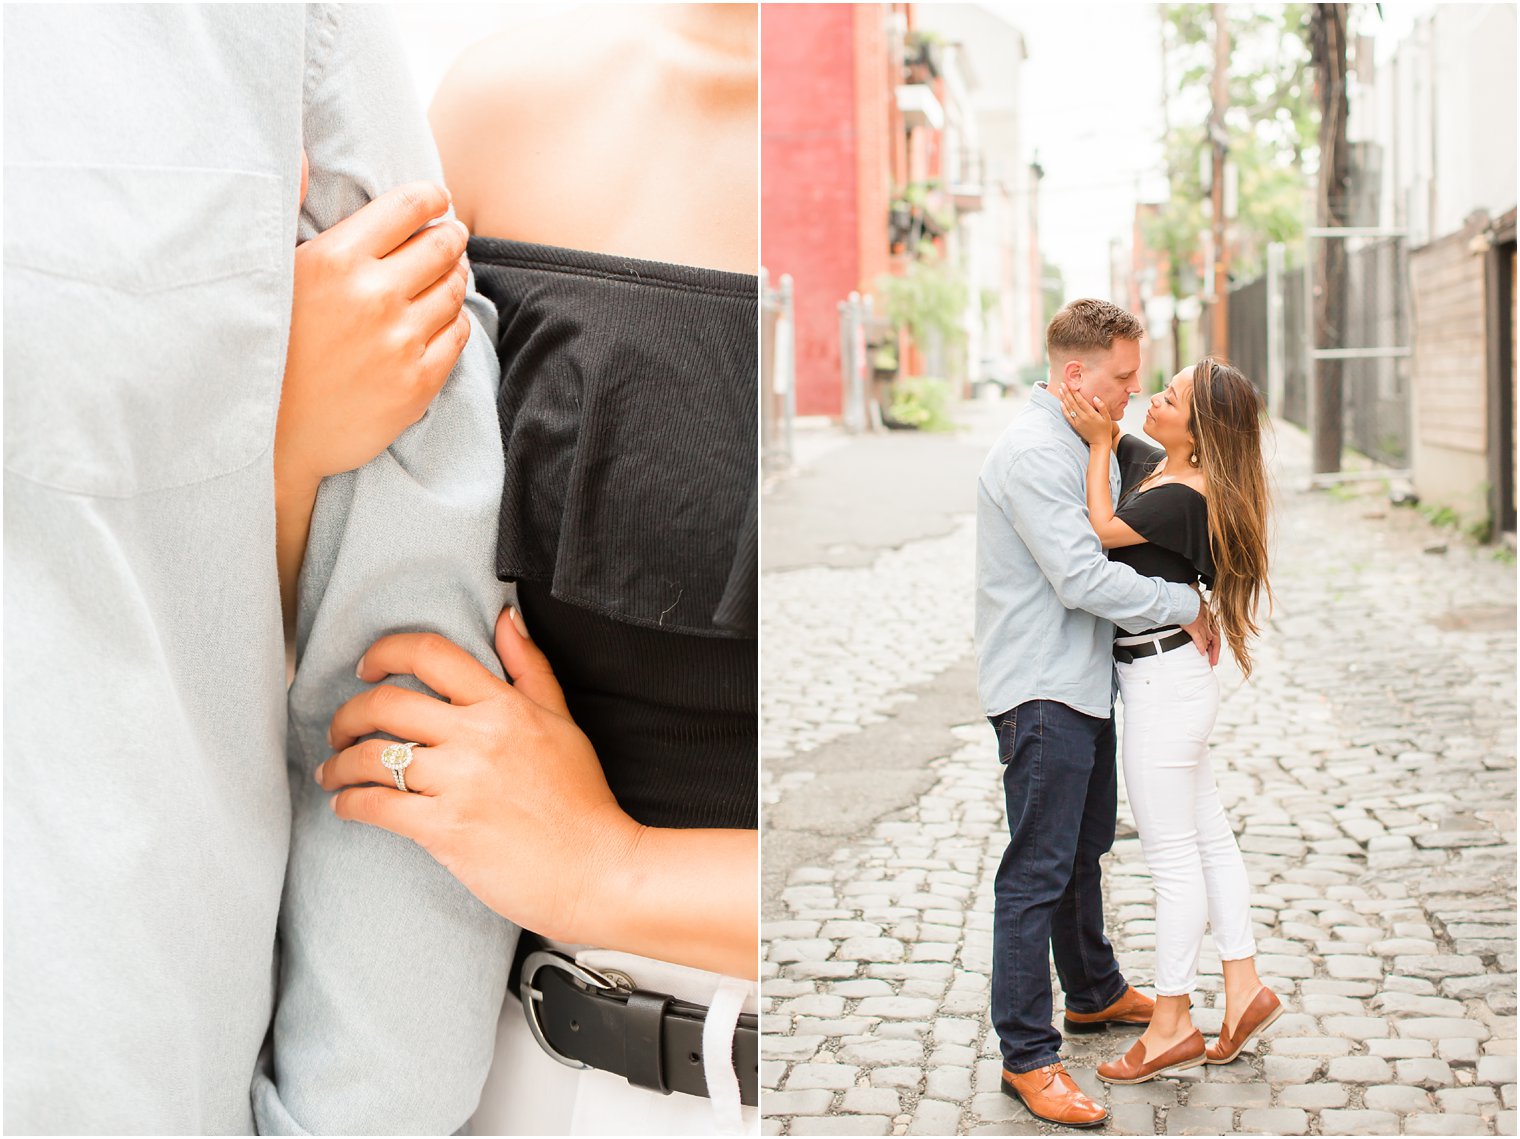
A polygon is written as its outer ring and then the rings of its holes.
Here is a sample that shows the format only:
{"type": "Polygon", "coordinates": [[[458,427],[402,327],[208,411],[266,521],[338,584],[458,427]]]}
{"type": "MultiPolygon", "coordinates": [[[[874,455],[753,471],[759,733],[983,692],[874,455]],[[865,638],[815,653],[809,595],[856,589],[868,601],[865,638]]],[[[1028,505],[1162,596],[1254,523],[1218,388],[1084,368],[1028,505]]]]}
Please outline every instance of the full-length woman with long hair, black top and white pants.
{"type": "MultiPolygon", "coordinates": [[[[1151,398],[1145,432],[1160,447],[1123,435],[1108,414],[1064,388],[1061,403],[1090,447],[1087,506],[1116,561],[1167,581],[1202,582],[1245,677],[1259,633],[1266,579],[1266,465],[1262,405],[1237,370],[1204,359],[1151,398]],[[1123,496],[1108,491],[1117,447],[1123,496]]],[[[1114,640],[1125,706],[1125,789],[1155,879],[1155,1013],[1120,1058],[1100,1064],[1108,1083],[1135,1084],[1202,1063],[1225,1064],[1283,1011],[1256,972],[1245,864],[1225,820],[1208,763],[1219,683],[1175,628],[1114,640]],[[1204,922],[1224,963],[1225,1016],[1204,1046],[1193,1026],[1204,922]]]]}

